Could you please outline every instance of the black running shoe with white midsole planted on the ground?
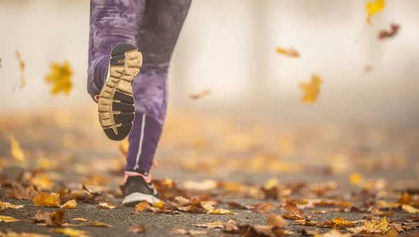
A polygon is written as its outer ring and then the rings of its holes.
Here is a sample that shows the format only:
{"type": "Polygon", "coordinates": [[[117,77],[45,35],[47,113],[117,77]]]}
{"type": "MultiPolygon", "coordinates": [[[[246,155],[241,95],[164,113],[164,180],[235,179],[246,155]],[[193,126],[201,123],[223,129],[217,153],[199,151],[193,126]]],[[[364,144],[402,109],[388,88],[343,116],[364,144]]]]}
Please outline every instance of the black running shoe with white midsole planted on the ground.
{"type": "Polygon", "coordinates": [[[140,175],[126,175],[124,184],[125,198],[122,204],[125,206],[135,206],[142,200],[146,200],[149,204],[155,204],[160,201],[159,192],[154,188],[153,183],[147,183],[145,178],[140,175]]]}

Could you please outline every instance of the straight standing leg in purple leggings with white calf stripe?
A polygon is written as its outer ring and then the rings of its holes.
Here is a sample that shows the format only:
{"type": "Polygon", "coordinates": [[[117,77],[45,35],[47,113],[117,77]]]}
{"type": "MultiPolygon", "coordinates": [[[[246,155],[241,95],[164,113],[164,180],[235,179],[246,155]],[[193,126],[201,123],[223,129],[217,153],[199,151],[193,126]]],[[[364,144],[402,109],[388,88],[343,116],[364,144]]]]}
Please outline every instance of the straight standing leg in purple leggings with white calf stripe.
{"type": "Polygon", "coordinates": [[[133,82],[135,121],[126,171],[149,175],[168,101],[168,67],[191,0],[147,0],[137,36],[144,63],[133,82]]]}

